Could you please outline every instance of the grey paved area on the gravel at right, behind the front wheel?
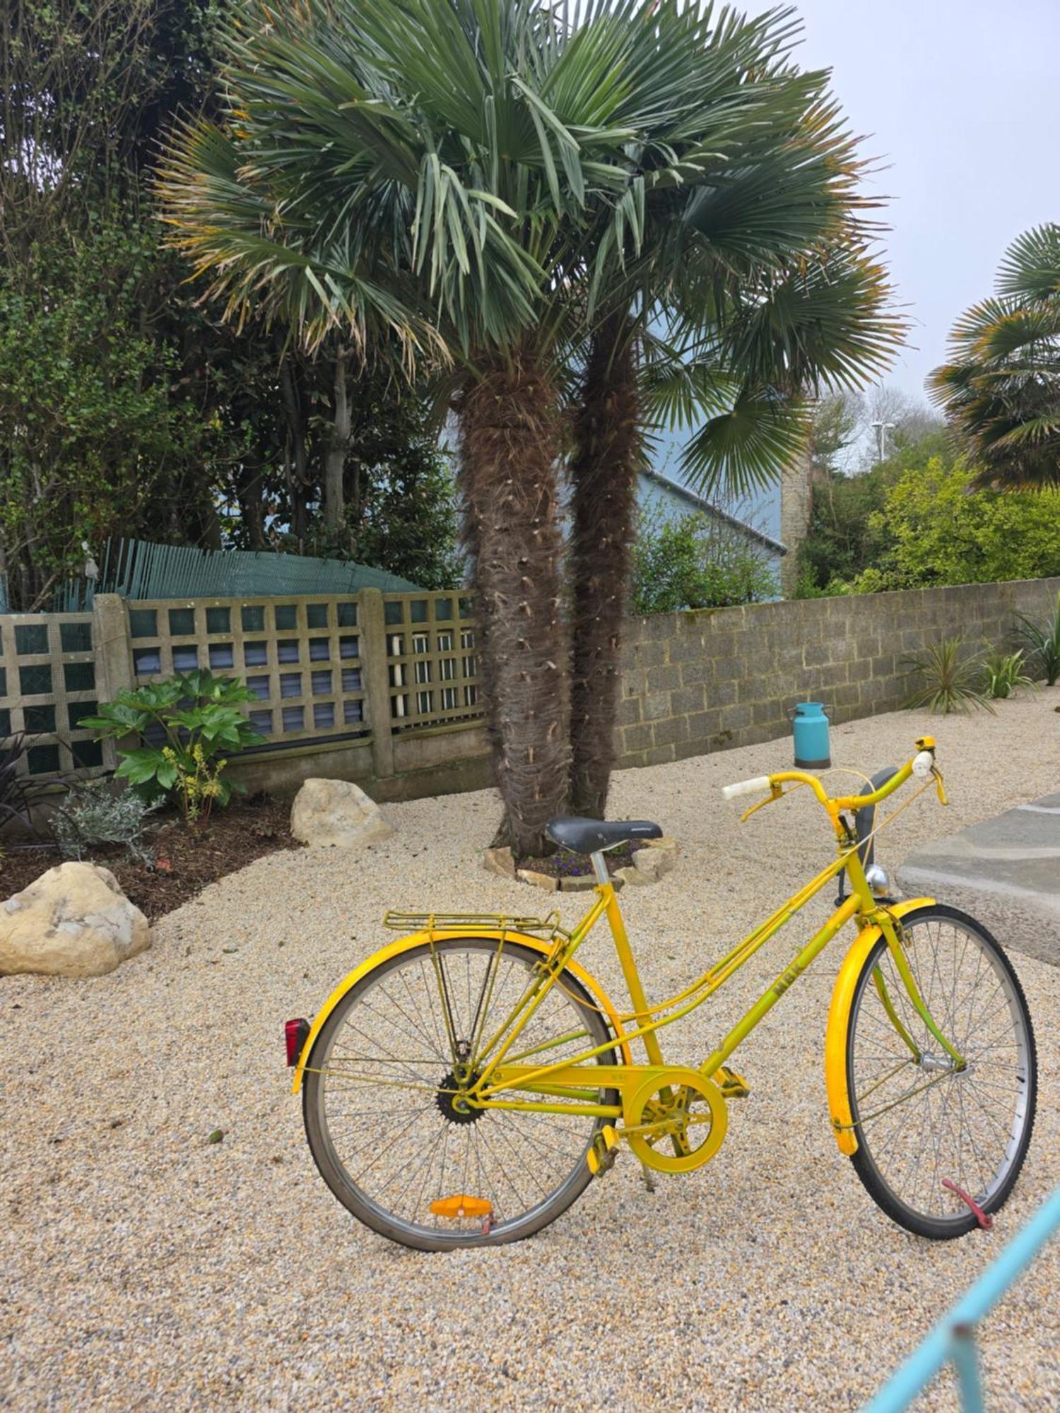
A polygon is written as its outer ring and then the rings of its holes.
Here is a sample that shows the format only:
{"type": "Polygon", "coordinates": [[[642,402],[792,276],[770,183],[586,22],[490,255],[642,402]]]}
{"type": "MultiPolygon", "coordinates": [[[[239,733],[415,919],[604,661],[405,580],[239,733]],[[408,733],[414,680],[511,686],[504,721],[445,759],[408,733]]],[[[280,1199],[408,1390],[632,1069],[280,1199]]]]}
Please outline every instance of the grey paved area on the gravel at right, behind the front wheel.
{"type": "Polygon", "coordinates": [[[907,893],[979,917],[1003,947],[1060,966],[1060,790],[912,853],[907,893]]]}

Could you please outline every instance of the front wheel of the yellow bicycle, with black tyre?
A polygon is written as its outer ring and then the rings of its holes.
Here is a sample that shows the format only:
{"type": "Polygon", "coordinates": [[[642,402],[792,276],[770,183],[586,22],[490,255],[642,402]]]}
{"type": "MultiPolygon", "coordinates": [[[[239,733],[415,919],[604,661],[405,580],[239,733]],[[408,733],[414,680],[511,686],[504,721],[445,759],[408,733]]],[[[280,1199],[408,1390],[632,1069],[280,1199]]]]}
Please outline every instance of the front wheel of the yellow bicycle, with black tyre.
{"type": "Polygon", "coordinates": [[[905,955],[957,1070],[913,1007],[881,940],[858,978],[847,1029],[852,1163],[899,1225],[937,1241],[1008,1200],[1035,1123],[1035,1034],[1019,979],[991,934],[934,904],[902,918],[905,955]],[[903,1034],[905,1031],[905,1034],[903,1034]]]}

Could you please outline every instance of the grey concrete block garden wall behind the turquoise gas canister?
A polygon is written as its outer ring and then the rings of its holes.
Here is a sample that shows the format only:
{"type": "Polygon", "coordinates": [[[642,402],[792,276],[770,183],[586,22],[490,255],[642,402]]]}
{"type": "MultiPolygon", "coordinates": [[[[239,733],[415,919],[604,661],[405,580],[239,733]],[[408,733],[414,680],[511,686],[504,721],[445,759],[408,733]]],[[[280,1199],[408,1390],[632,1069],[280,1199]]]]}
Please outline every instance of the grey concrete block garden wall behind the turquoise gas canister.
{"type": "Polygon", "coordinates": [[[619,766],[772,740],[799,701],[823,701],[835,722],[895,711],[912,690],[903,657],[957,633],[1011,646],[1016,613],[1044,617],[1059,589],[1018,579],[630,619],[619,766]]]}

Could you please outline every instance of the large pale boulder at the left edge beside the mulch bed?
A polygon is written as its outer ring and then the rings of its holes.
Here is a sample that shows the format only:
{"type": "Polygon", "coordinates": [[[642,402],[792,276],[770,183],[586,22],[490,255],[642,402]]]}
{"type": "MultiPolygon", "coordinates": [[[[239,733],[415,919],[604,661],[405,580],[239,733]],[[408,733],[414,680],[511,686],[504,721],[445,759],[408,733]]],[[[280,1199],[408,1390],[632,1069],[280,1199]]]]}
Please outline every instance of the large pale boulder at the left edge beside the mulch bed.
{"type": "Polygon", "coordinates": [[[102,976],[150,945],[147,918],[96,863],[59,863],[0,903],[0,974],[102,976]]]}

